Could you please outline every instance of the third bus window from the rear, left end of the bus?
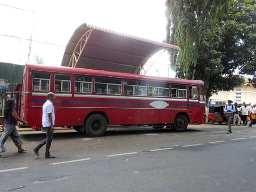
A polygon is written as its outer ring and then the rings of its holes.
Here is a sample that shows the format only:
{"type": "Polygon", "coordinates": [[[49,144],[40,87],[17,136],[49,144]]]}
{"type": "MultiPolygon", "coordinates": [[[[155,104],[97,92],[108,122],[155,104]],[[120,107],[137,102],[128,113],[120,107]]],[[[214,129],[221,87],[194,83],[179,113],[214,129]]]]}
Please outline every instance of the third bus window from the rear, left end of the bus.
{"type": "Polygon", "coordinates": [[[76,93],[91,93],[92,92],[92,77],[84,75],[75,76],[75,92],[76,93]]]}

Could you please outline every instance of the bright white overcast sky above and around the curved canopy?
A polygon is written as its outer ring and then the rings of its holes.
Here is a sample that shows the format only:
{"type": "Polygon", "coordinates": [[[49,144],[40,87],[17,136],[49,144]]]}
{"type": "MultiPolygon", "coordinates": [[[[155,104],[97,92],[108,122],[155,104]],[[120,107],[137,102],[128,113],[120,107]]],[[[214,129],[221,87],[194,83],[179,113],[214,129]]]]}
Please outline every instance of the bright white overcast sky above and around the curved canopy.
{"type": "MultiPolygon", "coordinates": [[[[34,64],[38,55],[45,64],[61,65],[65,46],[82,23],[156,41],[166,35],[165,0],[0,0],[0,18],[0,62],[14,64],[34,64]],[[28,60],[31,34],[54,45],[33,41],[28,60]]],[[[146,65],[152,62],[147,75],[174,77],[166,52],[146,65]]]]}

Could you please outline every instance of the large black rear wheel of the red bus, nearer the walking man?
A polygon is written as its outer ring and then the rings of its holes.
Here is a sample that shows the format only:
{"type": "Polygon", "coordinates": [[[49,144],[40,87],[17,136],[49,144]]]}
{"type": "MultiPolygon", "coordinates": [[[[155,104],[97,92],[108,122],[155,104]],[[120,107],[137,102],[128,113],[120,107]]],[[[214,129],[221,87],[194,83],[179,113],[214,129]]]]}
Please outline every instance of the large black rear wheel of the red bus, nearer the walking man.
{"type": "Polygon", "coordinates": [[[90,137],[101,137],[107,130],[107,120],[100,114],[91,115],[85,122],[85,132],[90,137]]]}

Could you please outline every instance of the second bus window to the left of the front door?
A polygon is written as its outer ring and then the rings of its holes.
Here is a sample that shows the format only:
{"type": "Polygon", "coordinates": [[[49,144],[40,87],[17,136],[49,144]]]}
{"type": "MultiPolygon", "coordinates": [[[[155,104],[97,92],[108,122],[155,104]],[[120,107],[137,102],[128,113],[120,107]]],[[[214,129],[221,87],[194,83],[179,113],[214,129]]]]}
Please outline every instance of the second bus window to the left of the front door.
{"type": "Polygon", "coordinates": [[[169,97],[169,84],[162,82],[149,82],[148,94],[153,97],[169,97]]]}

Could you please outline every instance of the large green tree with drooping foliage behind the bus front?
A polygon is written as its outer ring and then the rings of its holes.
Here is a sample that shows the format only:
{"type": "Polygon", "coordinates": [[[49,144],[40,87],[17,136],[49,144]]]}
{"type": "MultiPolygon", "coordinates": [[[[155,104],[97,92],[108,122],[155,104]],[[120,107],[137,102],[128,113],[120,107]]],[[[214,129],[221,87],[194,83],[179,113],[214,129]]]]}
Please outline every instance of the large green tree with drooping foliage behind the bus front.
{"type": "Polygon", "coordinates": [[[240,74],[256,71],[256,0],[167,0],[168,43],[177,76],[205,82],[213,92],[243,83],[240,74]]]}

